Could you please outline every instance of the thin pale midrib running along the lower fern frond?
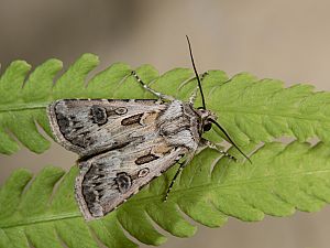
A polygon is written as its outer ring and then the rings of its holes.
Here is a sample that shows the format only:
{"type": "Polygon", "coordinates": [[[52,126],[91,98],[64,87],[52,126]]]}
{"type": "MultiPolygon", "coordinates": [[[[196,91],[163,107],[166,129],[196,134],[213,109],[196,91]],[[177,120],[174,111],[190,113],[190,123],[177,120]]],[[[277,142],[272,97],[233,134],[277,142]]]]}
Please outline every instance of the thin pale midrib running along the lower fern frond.
{"type": "MultiPolygon", "coordinates": [[[[234,181],[231,181],[230,183],[221,183],[221,184],[210,181],[206,184],[199,184],[197,186],[191,186],[189,188],[173,190],[172,195],[177,195],[177,194],[180,195],[182,192],[184,192],[185,196],[187,197],[187,192],[194,192],[196,194],[196,192],[198,192],[198,191],[210,192],[211,190],[217,190],[219,187],[226,188],[226,187],[233,187],[233,186],[243,185],[243,184],[260,183],[263,181],[270,182],[270,177],[272,177],[273,180],[288,179],[288,177],[292,177],[293,180],[295,180],[295,179],[297,179],[296,176],[298,176],[298,175],[309,175],[309,174],[318,174],[318,173],[330,173],[330,169],[301,171],[301,172],[290,173],[289,175],[277,174],[277,175],[267,175],[267,176],[261,176],[261,177],[254,177],[254,179],[248,179],[248,180],[234,180],[234,181]],[[286,176],[283,176],[283,175],[286,175],[286,176]]],[[[143,196],[143,197],[140,197],[136,200],[132,198],[130,202],[136,202],[136,204],[141,205],[144,202],[150,202],[151,200],[161,198],[161,197],[163,197],[163,195],[157,194],[157,195],[152,195],[152,196],[143,196]]],[[[41,216],[28,217],[28,218],[24,218],[23,220],[13,222],[12,224],[9,223],[8,225],[3,225],[3,226],[1,226],[1,224],[0,224],[0,228],[8,229],[8,228],[12,228],[12,227],[18,227],[18,226],[30,226],[30,225],[40,224],[40,223],[58,222],[58,220],[72,219],[72,218],[81,218],[80,212],[77,211],[77,212],[69,212],[69,213],[58,214],[58,215],[41,215],[41,216]]]]}

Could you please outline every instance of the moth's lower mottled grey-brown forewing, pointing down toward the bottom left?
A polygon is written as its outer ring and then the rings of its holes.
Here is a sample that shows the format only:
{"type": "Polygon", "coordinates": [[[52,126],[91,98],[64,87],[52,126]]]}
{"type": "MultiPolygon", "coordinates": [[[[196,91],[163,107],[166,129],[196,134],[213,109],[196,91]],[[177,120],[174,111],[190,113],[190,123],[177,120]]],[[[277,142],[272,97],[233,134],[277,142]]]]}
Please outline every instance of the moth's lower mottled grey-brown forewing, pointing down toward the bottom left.
{"type": "Polygon", "coordinates": [[[156,132],[144,141],[80,161],[76,198],[85,219],[105,216],[176,163],[187,149],[167,145],[156,132]]]}

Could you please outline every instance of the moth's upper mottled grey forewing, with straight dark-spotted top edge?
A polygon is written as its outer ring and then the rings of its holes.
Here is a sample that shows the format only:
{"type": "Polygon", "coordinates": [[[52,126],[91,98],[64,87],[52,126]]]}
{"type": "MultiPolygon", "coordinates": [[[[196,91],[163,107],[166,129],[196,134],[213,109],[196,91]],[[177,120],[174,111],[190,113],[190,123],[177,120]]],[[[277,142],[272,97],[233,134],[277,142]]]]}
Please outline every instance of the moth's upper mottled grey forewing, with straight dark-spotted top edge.
{"type": "Polygon", "coordinates": [[[57,100],[48,109],[56,140],[80,157],[117,149],[155,128],[166,108],[156,100],[57,100]]]}

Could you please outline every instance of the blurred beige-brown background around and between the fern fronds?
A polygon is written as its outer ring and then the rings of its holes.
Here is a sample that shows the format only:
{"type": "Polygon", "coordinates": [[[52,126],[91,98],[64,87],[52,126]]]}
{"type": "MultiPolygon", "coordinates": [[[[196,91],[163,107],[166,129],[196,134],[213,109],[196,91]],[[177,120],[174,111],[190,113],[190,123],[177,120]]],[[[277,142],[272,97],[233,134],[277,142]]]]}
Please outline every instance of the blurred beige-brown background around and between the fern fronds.
{"type": "MultiPolygon", "coordinates": [[[[260,78],[309,83],[330,90],[330,1],[327,0],[1,0],[0,63],[22,58],[36,66],[50,57],[64,65],[82,53],[114,62],[152,64],[161,73],[190,67],[185,35],[199,72],[242,71],[260,78]]],[[[15,168],[68,169],[77,157],[57,144],[41,155],[23,149],[0,154],[0,184],[15,168]]],[[[260,223],[230,219],[195,237],[169,237],[164,248],[328,248],[330,207],[260,223]]],[[[147,247],[147,246],[141,246],[147,247]]]]}

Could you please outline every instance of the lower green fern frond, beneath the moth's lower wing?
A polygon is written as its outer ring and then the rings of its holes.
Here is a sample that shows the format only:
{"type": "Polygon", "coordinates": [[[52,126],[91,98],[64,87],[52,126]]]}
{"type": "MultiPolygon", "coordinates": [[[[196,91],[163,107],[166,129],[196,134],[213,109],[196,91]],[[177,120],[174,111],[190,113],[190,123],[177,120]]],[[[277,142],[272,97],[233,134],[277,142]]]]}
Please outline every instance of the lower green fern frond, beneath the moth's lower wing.
{"type": "Polygon", "coordinates": [[[177,166],[90,223],[82,219],[74,198],[76,166],[66,174],[46,166],[33,180],[28,170],[16,170],[0,188],[0,245],[130,248],[138,245],[124,230],[148,245],[166,240],[160,228],[177,237],[193,236],[196,227],[187,216],[219,227],[228,216],[254,222],[265,214],[316,212],[330,202],[329,157],[330,148],[322,142],[266,143],[251,157],[252,164],[234,163],[206,149],[183,171],[168,202],[162,200],[177,166]]]}

